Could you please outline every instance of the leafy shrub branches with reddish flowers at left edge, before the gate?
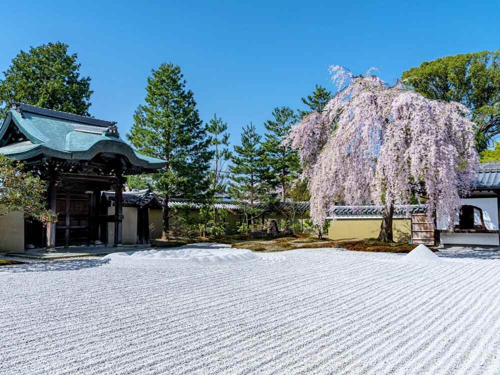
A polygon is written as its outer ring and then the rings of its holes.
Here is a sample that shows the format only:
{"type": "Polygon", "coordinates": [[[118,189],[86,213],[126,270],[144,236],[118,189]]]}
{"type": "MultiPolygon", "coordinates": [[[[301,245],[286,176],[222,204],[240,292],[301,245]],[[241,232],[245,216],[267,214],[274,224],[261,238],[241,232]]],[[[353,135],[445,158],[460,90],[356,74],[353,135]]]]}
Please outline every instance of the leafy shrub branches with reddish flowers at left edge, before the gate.
{"type": "Polygon", "coordinates": [[[29,219],[46,225],[56,217],[45,206],[46,182],[26,171],[24,165],[0,154],[0,207],[1,214],[23,211],[29,219]]]}

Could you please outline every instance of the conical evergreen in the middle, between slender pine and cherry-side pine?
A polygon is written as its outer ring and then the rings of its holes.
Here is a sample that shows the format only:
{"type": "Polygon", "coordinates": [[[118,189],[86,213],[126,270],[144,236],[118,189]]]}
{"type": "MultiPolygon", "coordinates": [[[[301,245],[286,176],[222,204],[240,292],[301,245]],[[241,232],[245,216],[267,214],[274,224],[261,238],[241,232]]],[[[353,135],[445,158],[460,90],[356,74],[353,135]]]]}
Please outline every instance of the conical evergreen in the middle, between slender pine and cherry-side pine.
{"type": "Polygon", "coordinates": [[[264,211],[263,206],[272,200],[269,184],[270,171],[263,161],[264,149],[260,144],[261,136],[251,123],[243,127],[241,145],[234,146],[231,157],[232,172],[229,193],[236,200],[243,215],[243,231],[255,224],[264,211]]]}

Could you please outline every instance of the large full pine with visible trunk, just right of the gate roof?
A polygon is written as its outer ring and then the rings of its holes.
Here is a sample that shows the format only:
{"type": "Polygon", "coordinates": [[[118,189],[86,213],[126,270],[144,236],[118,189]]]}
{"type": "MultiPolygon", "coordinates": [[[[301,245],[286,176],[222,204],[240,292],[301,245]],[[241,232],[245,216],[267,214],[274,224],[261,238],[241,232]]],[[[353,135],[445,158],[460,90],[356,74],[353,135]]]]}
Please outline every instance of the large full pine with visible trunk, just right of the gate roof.
{"type": "Polygon", "coordinates": [[[145,104],[137,107],[127,138],[140,152],[167,161],[151,178],[164,199],[163,238],[168,238],[173,215],[169,199],[198,199],[206,193],[213,152],[179,66],[162,63],[153,69],[146,91],[145,104]]]}

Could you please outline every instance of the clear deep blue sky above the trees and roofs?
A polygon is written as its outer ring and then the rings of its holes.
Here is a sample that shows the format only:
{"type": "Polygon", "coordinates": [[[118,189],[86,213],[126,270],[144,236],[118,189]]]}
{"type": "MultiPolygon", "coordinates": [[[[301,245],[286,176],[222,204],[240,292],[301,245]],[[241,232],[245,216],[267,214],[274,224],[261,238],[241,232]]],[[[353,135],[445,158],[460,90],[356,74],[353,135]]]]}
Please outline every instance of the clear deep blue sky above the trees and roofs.
{"type": "Polygon", "coordinates": [[[23,1],[3,6],[0,71],[20,49],[48,41],[77,52],[92,77],[90,112],[121,135],[151,68],[182,68],[203,120],[214,112],[231,141],[275,106],[301,107],[327,66],[378,66],[393,83],[424,60],[500,48],[498,1],[23,1]]]}

